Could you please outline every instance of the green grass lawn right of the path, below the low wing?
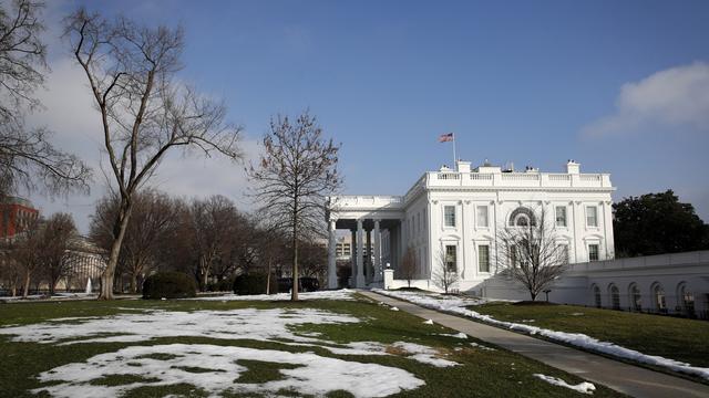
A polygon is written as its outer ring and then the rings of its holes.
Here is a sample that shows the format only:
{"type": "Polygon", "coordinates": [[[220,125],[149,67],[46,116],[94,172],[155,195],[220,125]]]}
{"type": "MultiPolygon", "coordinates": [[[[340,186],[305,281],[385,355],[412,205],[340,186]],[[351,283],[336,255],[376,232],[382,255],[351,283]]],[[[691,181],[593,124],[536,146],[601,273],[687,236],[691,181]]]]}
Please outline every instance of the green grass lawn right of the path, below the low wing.
{"type": "Polygon", "coordinates": [[[706,321],[575,305],[514,305],[497,302],[469,308],[500,321],[583,333],[643,354],[709,367],[709,322],[706,321]]]}

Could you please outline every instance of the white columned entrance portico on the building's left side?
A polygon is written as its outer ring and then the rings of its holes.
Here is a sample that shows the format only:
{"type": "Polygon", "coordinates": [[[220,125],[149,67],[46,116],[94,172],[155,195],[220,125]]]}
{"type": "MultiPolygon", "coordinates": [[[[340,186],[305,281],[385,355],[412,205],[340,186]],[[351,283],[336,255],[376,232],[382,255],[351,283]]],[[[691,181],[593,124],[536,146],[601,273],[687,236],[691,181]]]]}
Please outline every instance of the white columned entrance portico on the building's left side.
{"type": "Polygon", "coordinates": [[[328,202],[328,287],[337,289],[337,230],[350,230],[351,287],[381,285],[383,266],[397,268],[402,256],[401,197],[330,197],[328,202]]]}

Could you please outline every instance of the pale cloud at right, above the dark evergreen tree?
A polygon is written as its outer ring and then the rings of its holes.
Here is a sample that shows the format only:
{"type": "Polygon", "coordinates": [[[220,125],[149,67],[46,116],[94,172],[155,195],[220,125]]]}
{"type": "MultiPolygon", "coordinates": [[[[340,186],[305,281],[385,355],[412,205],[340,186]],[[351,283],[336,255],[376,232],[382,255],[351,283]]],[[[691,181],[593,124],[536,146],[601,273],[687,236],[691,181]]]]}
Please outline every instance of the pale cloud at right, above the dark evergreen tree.
{"type": "Polygon", "coordinates": [[[616,112],[582,129],[584,136],[636,133],[653,125],[709,132],[709,64],[664,70],[620,87],[616,112]]]}

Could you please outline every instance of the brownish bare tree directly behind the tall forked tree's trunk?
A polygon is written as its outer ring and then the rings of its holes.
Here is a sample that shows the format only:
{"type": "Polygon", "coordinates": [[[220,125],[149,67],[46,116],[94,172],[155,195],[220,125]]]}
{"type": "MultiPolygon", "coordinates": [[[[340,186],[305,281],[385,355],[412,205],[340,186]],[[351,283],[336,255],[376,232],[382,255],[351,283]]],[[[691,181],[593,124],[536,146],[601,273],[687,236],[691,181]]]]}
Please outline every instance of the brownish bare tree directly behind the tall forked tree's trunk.
{"type": "MultiPolygon", "coordinates": [[[[92,240],[109,250],[112,244],[112,227],[120,206],[120,198],[109,195],[96,206],[91,222],[92,240]]],[[[133,213],[125,232],[119,268],[129,276],[131,292],[137,293],[141,280],[156,263],[158,244],[164,234],[177,228],[174,201],[163,192],[144,189],[133,198],[133,213]]]]}

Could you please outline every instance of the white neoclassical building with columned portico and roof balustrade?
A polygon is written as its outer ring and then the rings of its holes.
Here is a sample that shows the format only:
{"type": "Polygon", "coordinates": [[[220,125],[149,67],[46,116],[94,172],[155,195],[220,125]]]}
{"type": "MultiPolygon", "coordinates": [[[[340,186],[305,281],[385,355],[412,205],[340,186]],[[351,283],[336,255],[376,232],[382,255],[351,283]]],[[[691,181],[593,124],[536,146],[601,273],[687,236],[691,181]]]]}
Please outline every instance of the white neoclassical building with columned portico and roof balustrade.
{"type": "Polygon", "coordinates": [[[580,174],[572,160],[564,172],[516,172],[487,163],[472,169],[458,161],[455,169],[424,172],[404,196],[330,197],[328,285],[337,287],[337,230],[349,230],[353,286],[383,285],[383,270],[395,275],[411,248],[417,286],[435,290],[431,279],[445,253],[458,270],[458,287],[474,290],[495,272],[496,230],[531,222],[542,208],[553,214],[569,262],[613,259],[613,191],[609,175],[580,174]],[[370,245],[371,255],[363,255],[360,248],[370,245]]]}

